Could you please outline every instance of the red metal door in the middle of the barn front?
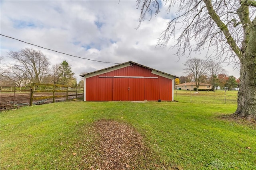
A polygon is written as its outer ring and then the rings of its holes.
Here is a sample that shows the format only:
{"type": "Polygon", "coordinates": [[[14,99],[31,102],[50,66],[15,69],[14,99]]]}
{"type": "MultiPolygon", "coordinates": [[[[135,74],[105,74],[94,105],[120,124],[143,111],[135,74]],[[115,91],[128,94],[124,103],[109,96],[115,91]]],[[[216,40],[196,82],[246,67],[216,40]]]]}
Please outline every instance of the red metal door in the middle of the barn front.
{"type": "Polygon", "coordinates": [[[114,78],[114,101],[142,101],[144,100],[144,78],[114,78]]]}

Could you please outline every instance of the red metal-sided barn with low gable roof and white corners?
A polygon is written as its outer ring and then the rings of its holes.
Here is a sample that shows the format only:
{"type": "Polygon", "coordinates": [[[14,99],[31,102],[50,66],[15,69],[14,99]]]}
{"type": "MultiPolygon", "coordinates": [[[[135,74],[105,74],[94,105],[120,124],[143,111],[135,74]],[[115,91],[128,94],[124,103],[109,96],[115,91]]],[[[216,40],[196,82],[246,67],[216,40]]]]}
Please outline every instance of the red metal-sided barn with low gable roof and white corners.
{"type": "Polygon", "coordinates": [[[172,101],[177,78],[132,61],[80,76],[84,77],[84,101],[172,101]]]}

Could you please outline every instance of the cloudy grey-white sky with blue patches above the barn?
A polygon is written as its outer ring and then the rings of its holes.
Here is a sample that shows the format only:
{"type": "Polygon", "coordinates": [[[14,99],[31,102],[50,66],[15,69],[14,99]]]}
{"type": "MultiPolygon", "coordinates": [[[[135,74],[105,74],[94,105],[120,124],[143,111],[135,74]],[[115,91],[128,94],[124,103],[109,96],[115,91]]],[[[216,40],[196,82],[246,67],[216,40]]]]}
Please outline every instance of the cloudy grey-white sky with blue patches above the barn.
{"type": "MultiPolygon", "coordinates": [[[[170,49],[175,39],[170,39],[165,48],[157,46],[159,35],[175,16],[176,8],[168,14],[166,6],[160,3],[160,13],[156,17],[153,14],[151,20],[147,16],[135,29],[140,17],[140,8],[136,9],[136,5],[135,0],[1,0],[0,32],[69,55],[110,63],[134,61],[175,76],[186,75],[182,63],[189,56],[179,59],[175,55],[177,49],[170,49]]],[[[3,65],[13,63],[7,52],[32,47],[42,51],[51,65],[66,60],[78,82],[82,80],[79,76],[82,73],[116,65],[71,57],[4,36],[0,36],[0,47],[3,65]]],[[[206,59],[206,53],[197,52],[191,57],[206,59]]],[[[222,66],[228,75],[240,77],[239,70],[232,64],[222,66]]]]}

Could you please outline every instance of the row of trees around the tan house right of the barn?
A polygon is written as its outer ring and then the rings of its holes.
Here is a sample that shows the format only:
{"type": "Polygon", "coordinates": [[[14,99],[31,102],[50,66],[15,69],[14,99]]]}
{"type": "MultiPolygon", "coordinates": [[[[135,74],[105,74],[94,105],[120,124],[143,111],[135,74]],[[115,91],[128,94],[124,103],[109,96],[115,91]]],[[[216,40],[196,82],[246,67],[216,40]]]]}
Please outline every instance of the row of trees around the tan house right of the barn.
{"type": "Polygon", "coordinates": [[[206,61],[203,59],[188,59],[185,63],[185,76],[180,76],[175,79],[175,84],[182,84],[185,82],[195,82],[196,88],[201,83],[208,83],[212,85],[212,90],[228,89],[232,90],[240,84],[239,78],[228,76],[226,70],[216,61],[206,61]]]}

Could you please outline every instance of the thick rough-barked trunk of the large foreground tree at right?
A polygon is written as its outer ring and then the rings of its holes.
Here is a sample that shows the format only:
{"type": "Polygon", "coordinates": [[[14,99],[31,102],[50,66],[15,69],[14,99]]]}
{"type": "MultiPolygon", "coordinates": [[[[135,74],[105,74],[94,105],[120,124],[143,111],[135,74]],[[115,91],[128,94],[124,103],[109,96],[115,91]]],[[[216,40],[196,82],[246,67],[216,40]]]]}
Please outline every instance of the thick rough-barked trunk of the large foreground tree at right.
{"type": "Polygon", "coordinates": [[[240,86],[234,115],[256,120],[256,24],[250,28],[248,47],[240,63],[240,86]]]}

